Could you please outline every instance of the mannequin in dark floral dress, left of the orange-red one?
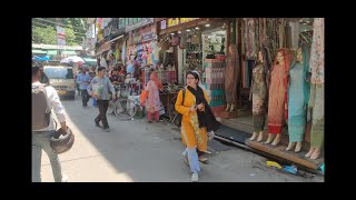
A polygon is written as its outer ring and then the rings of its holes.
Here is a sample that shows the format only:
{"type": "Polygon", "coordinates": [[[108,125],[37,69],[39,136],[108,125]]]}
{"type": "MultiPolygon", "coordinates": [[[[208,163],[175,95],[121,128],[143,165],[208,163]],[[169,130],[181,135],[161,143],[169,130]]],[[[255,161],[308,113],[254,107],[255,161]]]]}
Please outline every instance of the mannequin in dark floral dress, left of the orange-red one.
{"type": "MultiPolygon", "coordinates": [[[[265,51],[266,54],[266,51],[265,51]]],[[[257,53],[257,63],[253,70],[253,120],[254,120],[254,133],[249,140],[255,140],[258,133],[257,141],[263,140],[264,128],[266,122],[266,110],[267,110],[267,82],[266,82],[266,57],[263,51],[259,50],[257,53]]]]}

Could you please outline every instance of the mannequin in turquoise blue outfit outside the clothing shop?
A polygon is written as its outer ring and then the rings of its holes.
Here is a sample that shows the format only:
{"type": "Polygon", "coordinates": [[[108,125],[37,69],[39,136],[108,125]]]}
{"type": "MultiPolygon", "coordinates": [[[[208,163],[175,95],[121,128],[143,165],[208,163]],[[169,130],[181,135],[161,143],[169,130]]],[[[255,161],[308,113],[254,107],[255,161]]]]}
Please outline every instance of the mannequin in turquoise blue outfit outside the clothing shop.
{"type": "Polygon", "coordinates": [[[309,100],[308,73],[308,51],[307,47],[297,49],[297,59],[290,66],[289,87],[288,87],[288,132],[289,144],[286,148],[289,151],[296,143],[295,152],[301,149],[303,136],[306,124],[306,111],[309,100]]]}

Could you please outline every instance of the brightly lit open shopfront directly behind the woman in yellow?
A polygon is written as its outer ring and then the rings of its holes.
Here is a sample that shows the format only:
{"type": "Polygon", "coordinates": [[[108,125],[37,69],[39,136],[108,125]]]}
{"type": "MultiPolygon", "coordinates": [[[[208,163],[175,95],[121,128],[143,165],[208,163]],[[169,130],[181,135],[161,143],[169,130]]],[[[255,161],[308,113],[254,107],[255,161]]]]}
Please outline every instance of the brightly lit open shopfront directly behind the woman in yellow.
{"type": "Polygon", "coordinates": [[[159,38],[164,68],[178,71],[185,84],[187,71],[197,70],[209,97],[212,111],[224,110],[224,74],[227,43],[227,19],[160,19],[159,38]]]}

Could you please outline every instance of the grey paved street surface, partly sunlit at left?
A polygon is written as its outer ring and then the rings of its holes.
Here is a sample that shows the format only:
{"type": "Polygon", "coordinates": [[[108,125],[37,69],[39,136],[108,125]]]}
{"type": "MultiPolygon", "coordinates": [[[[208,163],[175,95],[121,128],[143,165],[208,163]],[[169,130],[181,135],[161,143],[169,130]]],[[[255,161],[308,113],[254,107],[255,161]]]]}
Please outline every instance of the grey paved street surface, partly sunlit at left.
{"type": "MultiPolygon", "coordinates": [[[[111,131],[95,127],[98,109],[81,107],[81,98],[62,100],[68,126],[76,133],[73,148],[60,154],[69,182],[190,182],[182,161],[178,129],[169,122],[147,123],[145,119],[120,121],[108,114],[111,131]]],[[[266,158],[229,147],[209,148],[210,163],[200,164],[200,182],[323,182],[324,178],[285,174],[266,167],[266,158]]],[[[52,182],[49,160],[42,154],[42,180],[52,182]]]]}

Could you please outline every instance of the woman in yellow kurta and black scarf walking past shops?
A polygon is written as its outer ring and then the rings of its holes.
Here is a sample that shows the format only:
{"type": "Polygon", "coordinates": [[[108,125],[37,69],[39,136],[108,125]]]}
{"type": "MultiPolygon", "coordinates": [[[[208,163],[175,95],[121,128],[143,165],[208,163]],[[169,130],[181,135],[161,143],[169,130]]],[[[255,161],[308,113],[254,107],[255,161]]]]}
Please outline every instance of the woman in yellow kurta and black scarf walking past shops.
{"type": "MultiPolygon", "coordinates": [[[[184,144],[187,147],[184,156],[188,158],[192,172],[191,181],[198,181],[198,172],[200,171],[197,150],[200,152],[207,151],[207,128],[210,128],[209,124],[216,123],[208,104],[209,100],[206,91],[198,86],[198,82],[199,76],[195,72],[188,72],[185,99],[182,99],[181,90],[176,101],[176,110],[182,114],[180,134],[184,144]]],[[[211,130],[215,131],[216,129],[212,128],[211,130]]]]}

